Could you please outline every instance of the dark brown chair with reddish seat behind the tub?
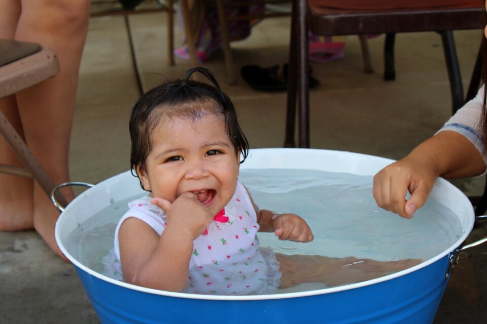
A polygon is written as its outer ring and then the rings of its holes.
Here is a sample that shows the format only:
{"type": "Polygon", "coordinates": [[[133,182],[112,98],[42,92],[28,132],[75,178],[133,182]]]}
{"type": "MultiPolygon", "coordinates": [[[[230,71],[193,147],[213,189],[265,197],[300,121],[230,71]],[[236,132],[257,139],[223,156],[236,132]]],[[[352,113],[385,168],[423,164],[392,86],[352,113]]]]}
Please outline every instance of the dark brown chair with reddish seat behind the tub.
{"type": "Polygon", "coordinates": [[[387,34],[385,78],[394,79],[396,33],[437,31],[441,34],[450,80],[453,110],[464,103],[453,30],[481,29],[485,7],[481,0],[297,0],[291,19],[290,65],[285,147],[294,147],[296,95],[299,147],[309,147],[309,87],[307,32],[317,35],[387,34]],[[399,5],[398,5],[399,4],[399,5]],[[367,6],[367,7],[366,7],[367,6]],[[399,7],[401,6],[401,7],[399,7]]]}

